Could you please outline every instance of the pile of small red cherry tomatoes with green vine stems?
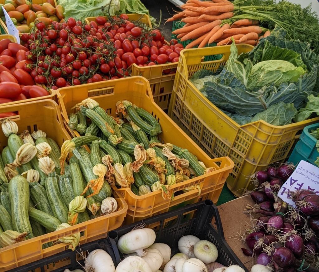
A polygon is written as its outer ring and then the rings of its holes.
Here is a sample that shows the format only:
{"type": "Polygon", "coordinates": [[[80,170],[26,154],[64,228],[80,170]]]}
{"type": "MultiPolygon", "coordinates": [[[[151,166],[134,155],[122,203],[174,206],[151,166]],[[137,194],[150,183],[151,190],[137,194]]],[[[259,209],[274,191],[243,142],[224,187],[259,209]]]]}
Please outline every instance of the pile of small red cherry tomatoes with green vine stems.
{"type": "Polygon", "coordinates": [[[39,22],[21,40],[29,50],[23,69],[36,83],[52,89],[129,76],[127,69],[134,63],[177,62],[183,49],[176,40],[167,45],[159,30],[131,22],[126,14],[108,21],[99,16],[89,25],[74,18],[49,28],[39,22]]]}

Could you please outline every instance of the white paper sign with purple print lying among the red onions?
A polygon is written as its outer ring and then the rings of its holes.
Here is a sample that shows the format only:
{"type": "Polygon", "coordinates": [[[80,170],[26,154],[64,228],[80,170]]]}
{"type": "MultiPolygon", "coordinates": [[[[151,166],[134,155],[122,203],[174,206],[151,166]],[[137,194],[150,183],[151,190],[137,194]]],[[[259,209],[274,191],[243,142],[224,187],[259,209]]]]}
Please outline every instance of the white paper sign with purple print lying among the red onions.
{"type": "Polygon", "coordinates": [[[301,160],[293,174],[281,186],[278,196],[289,205],[296,207],[290,192],[307,189],[319,194],[319,168],[301,160]]]}

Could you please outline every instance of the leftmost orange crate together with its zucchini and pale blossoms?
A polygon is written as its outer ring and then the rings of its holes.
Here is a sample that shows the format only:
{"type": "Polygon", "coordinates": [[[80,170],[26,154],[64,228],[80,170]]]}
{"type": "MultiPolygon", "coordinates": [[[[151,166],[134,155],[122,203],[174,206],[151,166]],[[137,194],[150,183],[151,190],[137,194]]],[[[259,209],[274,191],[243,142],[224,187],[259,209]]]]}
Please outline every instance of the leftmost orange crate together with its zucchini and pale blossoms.
{"type": "Polygon", "coordinates": [[[0,133],[1,161],[4,163],[1,173],[5,174],[1,175],[0,193],[1,271],[67,248],[74,250],[78,243],[106,237],[109,230],[121,226],[127,212],[123,199],[115,196],[116,209],[112,199],[103,201],[80,196],[86,181],[85,176],[81,179],[81,164],[78,165],[76,156],[70,159],[65,175],[60,175],[60,147],[70,136],[61,126],[62,117],[54,101],[5,105],[0,108],[0,113],[3,112],[18,112],[19,115],[10,120],[2,119],[4,132],[1,130],[0,133]],[[34,156],[35,153],[38,155],[34,156]],[[38,159],[37,156],[44,157],[38,159]],[[48,172],[52,173],[46,175],[48,172]],[[12,236],[18,239],[12,241],[12,236]]]}

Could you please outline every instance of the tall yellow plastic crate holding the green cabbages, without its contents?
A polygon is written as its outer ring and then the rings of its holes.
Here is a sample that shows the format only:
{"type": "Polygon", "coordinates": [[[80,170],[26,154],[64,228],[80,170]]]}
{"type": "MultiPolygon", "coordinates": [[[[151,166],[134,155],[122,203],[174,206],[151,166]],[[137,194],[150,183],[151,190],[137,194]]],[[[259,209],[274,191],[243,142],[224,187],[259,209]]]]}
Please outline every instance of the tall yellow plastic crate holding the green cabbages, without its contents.
{"type": "MultiPolygon", "coordinates": [[[[237,45],[238,53],[249,52],[248,44],[237,45]]],[[[243,126],[223,113],[198,91],[189,78],[200,69],[216,71],[225,65],[230,45],[187,49],[181,52],[168,115],[211,158],[229,156],[234,169],[227,179],[228,188],[240,196],[243,189],[253,189],[249,178],[270,163],[284,162],[302,129],[318,118],[285,126],[256,121],[243,126]],[[222,54],[220,60],[204,62],[205,56],[222,54]]]]}

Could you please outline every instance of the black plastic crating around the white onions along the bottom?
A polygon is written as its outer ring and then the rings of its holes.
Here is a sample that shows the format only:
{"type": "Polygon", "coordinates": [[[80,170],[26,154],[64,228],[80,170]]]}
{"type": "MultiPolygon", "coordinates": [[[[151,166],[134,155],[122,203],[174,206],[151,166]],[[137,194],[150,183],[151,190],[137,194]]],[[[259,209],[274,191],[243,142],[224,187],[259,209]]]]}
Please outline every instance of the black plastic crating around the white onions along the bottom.
{"type": "Polygon", "coordinates": [[[237,264],[245,269],[245,271],[248,271],[226,243],[218,209],[213,205],[211,200],[205,200],[123,226],[122,228],[110,231],[107,239],[100,239],[81,245],[78,246],[74,252],[67,250],[10,271],[62,272],[65,268],[69,268],[70,270],[76,268],[81,269],[80,264],[83,265],[83,260],[79,260],[80,255],[78,252],[82,251],[83,253],[87,253],[98,248],[108,252],[113,259],[114,265],[117,266],[123,256],[116,246],[118,238],[140,224],[144,224],[148,228],[154,229],[156,232],[155,242],[169,245],[173,255],[179,252],[177,247],[178,240],[184,235],[191,234],[197,236],[201,240],[211,241],[217,247],[217,262],[225,266],[237,264]],[[211,224],[212,219],[215,220],[216,227],[211,224]],[[63,267],[61,267],[61,264],[63,264],[63,267]],[[59,268],[55,269],[55,267],[59,268]]]}

